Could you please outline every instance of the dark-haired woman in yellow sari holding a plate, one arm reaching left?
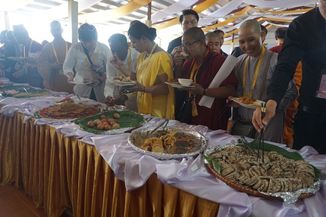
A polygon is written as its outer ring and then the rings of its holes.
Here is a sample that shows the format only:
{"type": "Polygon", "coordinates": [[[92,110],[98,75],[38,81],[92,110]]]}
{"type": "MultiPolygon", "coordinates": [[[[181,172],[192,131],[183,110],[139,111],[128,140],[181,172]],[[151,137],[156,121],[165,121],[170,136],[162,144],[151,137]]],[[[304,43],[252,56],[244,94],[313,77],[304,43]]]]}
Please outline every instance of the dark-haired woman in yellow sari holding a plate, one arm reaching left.
{"type": "Polygon", "coordinates": [[[138,22],[129,28],[128,36],[135,49],[141,53],[137,72],[131,72],[123,66],[117,55],[112,56],[111,64],[125,76],[137,80],[137,85],[130,90],[138,91],[138,112],[174,119],[174,91],[165,83],[173,79],[171,56],[154,42],[155,28],[138,22]]]}

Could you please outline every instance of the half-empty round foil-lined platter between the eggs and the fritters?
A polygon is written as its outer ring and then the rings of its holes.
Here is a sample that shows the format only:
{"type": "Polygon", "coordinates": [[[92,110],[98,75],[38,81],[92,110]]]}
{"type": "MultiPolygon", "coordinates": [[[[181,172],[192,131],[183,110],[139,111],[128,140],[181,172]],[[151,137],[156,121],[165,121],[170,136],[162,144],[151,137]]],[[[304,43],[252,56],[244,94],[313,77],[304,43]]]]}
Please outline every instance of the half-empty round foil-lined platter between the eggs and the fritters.
{"type": "Polygon", "coordinates": [[[203,152],[208,145],[207,139],[195,130],[187,128],[166,127],[165,131],[176,132],[175,137],[177,138],[177,140],[175,144],[177,146],[177,149],[173,153],[153,152],[142,149],[141,146],[143,145],[145,140],[151,137],[157,137],[157,134],[161,132],[162,128],[159,128],[155,132],[156,134],[150,134],[150,132],[152,132],[154,129],[155,127],[151,127],[132,131],[128,137],[129,144],[135,150],[144,154],[148,154],[160,160],[192,157],[203,152]]]}

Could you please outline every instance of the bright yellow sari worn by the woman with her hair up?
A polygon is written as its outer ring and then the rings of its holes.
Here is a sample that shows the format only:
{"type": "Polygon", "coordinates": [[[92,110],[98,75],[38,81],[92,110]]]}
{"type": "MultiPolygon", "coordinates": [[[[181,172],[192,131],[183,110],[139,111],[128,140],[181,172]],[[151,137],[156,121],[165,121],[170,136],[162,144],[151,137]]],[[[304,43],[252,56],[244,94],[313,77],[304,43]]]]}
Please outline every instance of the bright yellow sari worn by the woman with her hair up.
{"type": "MultiPolygon", "coordinates": [[[[157,76],[164,73],[168,75],[168,81],[173,79],[173,61],[167,52],[159,51],[144,59],[145,54],[146,52],[143,52],[138,57],[136,76],[141,84],[145,87],[153,86],[154,83],[159,82],[157,76]]],[[[169,94],[154,97],[152,94],[139,91],[137,96],[138,112],[174,119],[174,90],[170,85],[168,87],[169,94]]]]}

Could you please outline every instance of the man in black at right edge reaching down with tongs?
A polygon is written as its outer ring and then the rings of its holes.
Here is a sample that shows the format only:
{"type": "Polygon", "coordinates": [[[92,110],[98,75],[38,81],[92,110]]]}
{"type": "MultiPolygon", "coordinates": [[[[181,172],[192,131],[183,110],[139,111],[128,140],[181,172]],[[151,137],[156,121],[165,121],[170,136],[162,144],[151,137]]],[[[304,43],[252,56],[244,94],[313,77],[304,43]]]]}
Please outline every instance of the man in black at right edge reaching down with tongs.
{"type": "Polygon", "coordinates": [[[326,153],[326,99],[317,95],[322,87],[321,75],[326,73],[326,0],[294,19],[286,32],[283,49],[278,57],[270,85],[267,88],[266,115],[256,109],[253,124],[258,132],[275,115],[298,61],[302,61],[303,79],[299,106],[294,120],[294,149],[313,146],[319,154],[326,153]]]}

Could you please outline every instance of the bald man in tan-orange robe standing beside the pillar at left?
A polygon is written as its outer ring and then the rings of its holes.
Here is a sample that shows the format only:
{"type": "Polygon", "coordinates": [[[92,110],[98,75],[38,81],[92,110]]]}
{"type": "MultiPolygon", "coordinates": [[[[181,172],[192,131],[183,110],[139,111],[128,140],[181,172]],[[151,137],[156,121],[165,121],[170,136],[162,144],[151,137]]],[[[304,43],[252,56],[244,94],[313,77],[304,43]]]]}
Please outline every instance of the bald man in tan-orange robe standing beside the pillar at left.
{"type": "Polygon", "coordinates": [[[71,43],[62,37],[63,29],[59,21],[50,23],[50,32],[53,41],[42,48],[37,58],[37,68],[43,78],[43,85],[46,89],[72,94],[72,86],[66,85],[67,79],[62,69],[71,43]]]}

